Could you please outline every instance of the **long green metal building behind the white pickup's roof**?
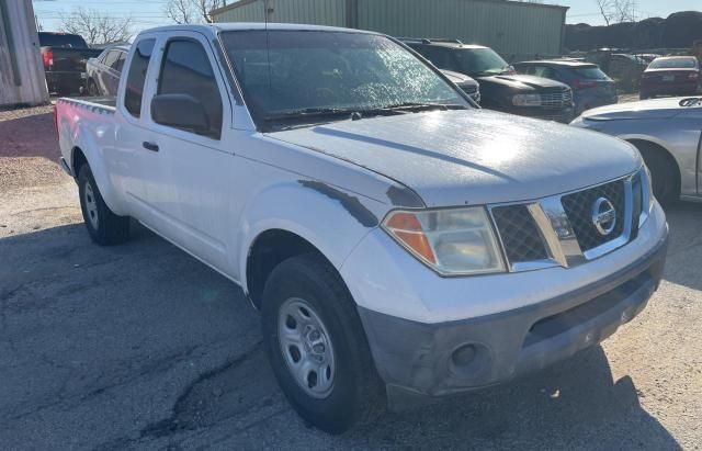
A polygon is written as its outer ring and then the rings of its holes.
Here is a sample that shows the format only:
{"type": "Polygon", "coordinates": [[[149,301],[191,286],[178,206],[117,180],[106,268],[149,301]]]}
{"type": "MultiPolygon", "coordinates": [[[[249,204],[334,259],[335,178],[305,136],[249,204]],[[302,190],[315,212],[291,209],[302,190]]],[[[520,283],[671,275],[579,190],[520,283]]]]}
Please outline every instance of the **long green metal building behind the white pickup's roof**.
{"type": "Polygon", "coordinates": [[[239,0],[215,22],[309,23],[393,36],[457,38],[508,59],[562,53],[566,7],[508,0],[239,0]]]}

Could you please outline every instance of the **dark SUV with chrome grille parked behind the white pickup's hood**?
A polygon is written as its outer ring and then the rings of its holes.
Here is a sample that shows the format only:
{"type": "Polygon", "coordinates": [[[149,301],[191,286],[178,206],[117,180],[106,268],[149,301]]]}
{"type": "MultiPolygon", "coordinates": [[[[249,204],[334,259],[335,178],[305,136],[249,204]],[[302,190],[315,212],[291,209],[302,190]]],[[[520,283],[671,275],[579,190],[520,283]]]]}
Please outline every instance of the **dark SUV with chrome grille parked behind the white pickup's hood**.
{"type": "Polygon", "coordinates": [[[517,75],[491,48],[449,40],[400,41],[438,68],[474,78],[480,84],[484,108],[565,123],[575,117],[569,87],[546,78],[517,75]]]}

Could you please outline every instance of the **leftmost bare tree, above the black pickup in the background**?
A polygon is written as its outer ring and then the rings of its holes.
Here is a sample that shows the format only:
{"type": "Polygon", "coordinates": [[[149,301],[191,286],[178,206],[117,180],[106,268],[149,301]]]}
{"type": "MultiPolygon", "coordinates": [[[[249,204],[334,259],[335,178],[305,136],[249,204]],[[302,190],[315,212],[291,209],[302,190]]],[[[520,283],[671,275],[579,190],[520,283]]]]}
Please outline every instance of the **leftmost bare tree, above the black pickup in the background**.
{"type": "Polygon", "coordinates": [[[88,44],[109,44],[132,37],[132,18],[115,18],[98,10],[76,8],[70,14],[61,14],[60,31],[79,34],[88,44]]]}

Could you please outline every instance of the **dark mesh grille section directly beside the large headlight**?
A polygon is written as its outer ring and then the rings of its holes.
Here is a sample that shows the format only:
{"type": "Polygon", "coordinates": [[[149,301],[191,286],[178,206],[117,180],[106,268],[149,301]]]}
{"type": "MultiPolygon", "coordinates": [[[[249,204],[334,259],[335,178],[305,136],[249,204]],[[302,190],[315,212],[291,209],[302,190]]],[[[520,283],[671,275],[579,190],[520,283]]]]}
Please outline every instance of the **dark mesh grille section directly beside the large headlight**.
{"type": "Polygon", "coordinates": [[[522,263],[548,258],[536,223],[526,205],[507,205],[492,208],[495,224],[505,245],[510,263],[522,263]]]}

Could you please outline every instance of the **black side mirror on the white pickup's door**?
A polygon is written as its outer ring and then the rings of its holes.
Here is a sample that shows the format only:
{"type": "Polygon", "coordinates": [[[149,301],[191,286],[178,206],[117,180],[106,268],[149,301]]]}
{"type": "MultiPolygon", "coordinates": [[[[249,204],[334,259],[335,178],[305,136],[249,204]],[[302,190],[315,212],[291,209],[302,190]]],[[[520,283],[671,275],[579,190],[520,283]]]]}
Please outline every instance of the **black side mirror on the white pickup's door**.
{"type": "Polygon", "coordinates": [[[202,102],[188,94],[159,94],[151,99],[154,122],[199,135],[210,134],[210,119],[202,102]]]}

